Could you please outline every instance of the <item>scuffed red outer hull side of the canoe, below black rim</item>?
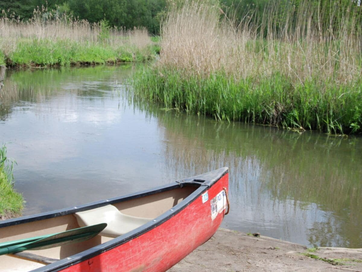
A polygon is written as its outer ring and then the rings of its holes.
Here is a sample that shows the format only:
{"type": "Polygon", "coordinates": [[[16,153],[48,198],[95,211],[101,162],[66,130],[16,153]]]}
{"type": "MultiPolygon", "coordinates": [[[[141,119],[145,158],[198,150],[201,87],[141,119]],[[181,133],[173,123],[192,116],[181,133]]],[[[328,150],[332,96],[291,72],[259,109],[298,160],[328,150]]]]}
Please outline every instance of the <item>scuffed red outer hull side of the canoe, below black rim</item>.
{"type": "Polygon", "coordinates": [[[224,187],[228,173],[209,187],[207,196],[203,193],[159,226],[62,271],[166,271],[214,235],[224,217],[224,187]]]}

